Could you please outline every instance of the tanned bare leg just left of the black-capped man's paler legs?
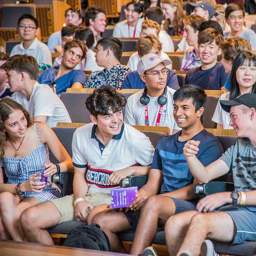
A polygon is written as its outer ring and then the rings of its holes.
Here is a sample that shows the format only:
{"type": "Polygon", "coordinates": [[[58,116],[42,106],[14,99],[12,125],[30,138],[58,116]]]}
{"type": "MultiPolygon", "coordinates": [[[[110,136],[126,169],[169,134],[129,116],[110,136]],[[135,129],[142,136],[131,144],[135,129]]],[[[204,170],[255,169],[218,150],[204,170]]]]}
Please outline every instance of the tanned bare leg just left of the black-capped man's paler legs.
{"type": "Polygon", "coordinates": [[[141,209],[140,221],[135,232],[130,254],[141,254],[146,247],[150,246],[156,234],[158,219],[160,218],[165,222],[174,214],[175,203],[172,198],[161,195],[147,198],[141,209]]]}

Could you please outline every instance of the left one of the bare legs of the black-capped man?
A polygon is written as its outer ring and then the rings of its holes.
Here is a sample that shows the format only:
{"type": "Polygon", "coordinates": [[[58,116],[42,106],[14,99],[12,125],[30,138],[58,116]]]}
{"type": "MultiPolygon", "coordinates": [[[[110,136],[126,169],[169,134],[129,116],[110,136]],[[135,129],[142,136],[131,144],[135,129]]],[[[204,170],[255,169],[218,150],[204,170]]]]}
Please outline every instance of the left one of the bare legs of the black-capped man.
{"type": "Polygon", "coordinates": [[[191,218],[197,211],[185,211],[169,218],[164,226],[165,240],[169,255],[176,255],[186,235],[191,218]]]}

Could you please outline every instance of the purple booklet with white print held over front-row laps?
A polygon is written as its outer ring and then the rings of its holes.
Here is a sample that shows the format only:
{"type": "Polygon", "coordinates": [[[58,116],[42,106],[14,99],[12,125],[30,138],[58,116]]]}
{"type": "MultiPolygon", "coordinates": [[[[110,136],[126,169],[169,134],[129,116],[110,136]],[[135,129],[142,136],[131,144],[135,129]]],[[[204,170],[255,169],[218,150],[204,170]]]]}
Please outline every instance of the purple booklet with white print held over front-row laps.
{"type": "Polygon", "coordinates": [[[138,187],[124,187],[111,190],[111,208],[129,207],[138,198],[138,187]]]}

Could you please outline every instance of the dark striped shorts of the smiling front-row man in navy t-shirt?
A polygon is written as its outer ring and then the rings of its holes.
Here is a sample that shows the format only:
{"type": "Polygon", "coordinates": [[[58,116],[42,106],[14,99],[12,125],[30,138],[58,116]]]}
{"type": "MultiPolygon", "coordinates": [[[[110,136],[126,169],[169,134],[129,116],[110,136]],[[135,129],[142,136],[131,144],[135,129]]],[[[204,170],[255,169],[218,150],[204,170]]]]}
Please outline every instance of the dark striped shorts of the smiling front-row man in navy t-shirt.
{"type": "MultiPolygon", "coordinates": [[[[186,201],[182,199],[172,198],[175,203],[175,214],[180,212],[189,211],[189,210],[197,210],[198,199],[193,199],[191,201],[186,201]]],[[[131,226],[131,231],[135,232],[139,219],[140,219],[140,210],[128,210],[125,212],[126,218],[131,226]]],[[[158,227],[162,227],[162,223],[160,219],[158,219],[158,227]]]]}

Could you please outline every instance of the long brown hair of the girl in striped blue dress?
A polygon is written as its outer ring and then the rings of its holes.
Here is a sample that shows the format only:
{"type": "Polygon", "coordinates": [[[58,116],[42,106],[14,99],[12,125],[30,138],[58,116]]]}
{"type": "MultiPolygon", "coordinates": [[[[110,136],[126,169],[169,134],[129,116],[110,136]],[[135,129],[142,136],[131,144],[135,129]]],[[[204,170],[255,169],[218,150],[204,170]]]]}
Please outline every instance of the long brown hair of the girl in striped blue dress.
{"type": "Polygon", "coordinates": [[[30,127],[33,124],[28,112],[23,108],[22,105],[8,98],[0,100],[0,160],[2,160],[4,155],[4,142],[7,137],[7,133],[4,132],[4,122],[16,109],[19,109],[24,113],[24,116],[27,119],[27,127],[30,127]]]}

